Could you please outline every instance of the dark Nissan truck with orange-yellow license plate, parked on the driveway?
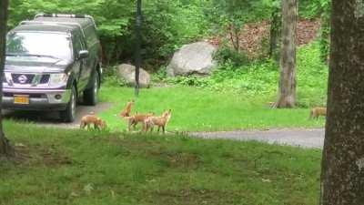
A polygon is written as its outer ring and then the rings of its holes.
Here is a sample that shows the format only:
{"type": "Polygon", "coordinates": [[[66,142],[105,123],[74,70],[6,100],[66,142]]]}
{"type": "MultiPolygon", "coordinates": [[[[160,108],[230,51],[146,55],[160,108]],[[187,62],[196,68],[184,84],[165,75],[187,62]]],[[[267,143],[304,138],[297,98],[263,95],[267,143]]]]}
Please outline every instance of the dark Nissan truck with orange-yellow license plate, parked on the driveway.
{"type": "Polygon", "coordinates": [[[58,110],[75,119],[77,98],[96,105],[101,46],[89,15],[35,15],[7,35],[3,108],[58,110]]]}

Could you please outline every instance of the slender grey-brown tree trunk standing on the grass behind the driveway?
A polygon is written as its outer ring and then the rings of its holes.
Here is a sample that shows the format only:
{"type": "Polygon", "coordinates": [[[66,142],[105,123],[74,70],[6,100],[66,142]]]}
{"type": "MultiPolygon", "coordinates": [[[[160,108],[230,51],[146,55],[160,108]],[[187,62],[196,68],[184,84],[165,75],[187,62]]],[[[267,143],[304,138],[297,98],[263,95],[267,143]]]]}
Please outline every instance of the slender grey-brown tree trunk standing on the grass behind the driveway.
{"type": "Polygon", "coordinates": [[[296,104],[297,0],[283,0],[282,16],[279,93],[275,107],[293,108],[296,104]]]}

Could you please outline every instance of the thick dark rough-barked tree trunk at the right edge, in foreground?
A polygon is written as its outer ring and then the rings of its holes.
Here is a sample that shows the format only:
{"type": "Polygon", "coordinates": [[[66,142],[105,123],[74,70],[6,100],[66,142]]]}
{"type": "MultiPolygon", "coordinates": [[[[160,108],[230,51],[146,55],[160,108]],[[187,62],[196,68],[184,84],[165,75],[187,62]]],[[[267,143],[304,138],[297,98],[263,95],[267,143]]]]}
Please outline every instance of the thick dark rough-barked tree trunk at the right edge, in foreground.
{"type": "Polygon", "coordinates": [[[321,205],[364,203],[364,3],[333,0],[321,205]]]}

